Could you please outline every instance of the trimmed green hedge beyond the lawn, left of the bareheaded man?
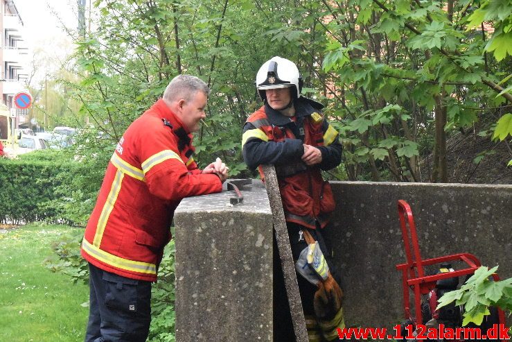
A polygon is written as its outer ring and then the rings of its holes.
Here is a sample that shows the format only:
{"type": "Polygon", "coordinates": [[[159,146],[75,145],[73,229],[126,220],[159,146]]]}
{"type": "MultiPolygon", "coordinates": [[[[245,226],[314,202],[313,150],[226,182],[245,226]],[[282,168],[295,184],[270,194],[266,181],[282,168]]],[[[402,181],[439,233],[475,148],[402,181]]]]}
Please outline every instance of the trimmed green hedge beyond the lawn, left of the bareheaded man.
{"type": "MultiPolygon", "coordinates": [[[[35,151],[0,160],[0,220],[84,225],[94,207],[103,158],[75,160],[73,151],[35,151]]],[[[106,164],[106,163],[105,163],[106,164]]]]}

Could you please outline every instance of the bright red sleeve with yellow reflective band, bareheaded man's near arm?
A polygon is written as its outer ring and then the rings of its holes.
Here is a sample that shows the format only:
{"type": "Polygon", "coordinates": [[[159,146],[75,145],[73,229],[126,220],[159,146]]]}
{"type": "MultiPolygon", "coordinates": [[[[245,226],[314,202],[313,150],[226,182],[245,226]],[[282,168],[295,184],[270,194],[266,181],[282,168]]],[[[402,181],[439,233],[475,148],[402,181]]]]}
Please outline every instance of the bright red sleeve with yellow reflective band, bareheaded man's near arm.
{"type": "Polygon", "coordinates": [[[139,158],[148,190],[159,198],[182,200],[222,191],[217,175],[187,168],[179,157],[175,136],[164,126],[139,139],[139,158]]]}

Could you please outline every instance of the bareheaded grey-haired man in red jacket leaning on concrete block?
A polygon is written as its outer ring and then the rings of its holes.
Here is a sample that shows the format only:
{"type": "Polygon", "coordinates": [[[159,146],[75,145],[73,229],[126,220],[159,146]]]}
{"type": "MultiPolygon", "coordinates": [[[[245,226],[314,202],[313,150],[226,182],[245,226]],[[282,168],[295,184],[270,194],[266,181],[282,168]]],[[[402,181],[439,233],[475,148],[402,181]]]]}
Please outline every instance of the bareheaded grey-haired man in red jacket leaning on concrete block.
{"type": "Polygon", "coordinates": [[[199,78],[175,77],[116,146],[82,241],[90,284],[86,342],[146,340],[151,282],[175,208],[182,198],[222,190],[225,164],[218,159],[201,171],[193,160],[191,133],[206,117],[209,92],[199,78]]]}

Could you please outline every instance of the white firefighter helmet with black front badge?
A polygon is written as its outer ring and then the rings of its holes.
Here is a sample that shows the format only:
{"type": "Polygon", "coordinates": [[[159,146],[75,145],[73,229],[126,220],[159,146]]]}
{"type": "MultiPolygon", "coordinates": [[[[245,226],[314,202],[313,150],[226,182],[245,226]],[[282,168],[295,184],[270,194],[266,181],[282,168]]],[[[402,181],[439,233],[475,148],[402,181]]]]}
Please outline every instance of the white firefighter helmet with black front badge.
{"type": "Polygon", "coordinates": [[[297,65],[291,60],[279,56],[272,57],[263,63],[256,74],[256,88],[263,101],[265,89],[295,87],[294,96],[299,98],[302,90],[302,78],[297,65]]]}

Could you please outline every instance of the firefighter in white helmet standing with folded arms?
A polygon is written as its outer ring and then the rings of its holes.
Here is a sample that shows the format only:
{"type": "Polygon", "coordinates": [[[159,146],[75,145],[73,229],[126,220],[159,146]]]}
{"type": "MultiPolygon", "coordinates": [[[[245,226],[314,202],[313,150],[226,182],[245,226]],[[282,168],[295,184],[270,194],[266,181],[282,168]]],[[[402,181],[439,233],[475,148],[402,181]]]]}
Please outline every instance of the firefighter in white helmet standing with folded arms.
{"type": "MultiPolygon", "coordinates": [[[[342,291],[332,277],[330,253],[320,233],[335,209],[321,170],[341,162],[342,145],[338,132],[321,113],[323,106],[301,96],[302,80],[293,62],[280,57],[265,62],[256,75],[256,87],[264,105],[245,123],[242,155],[249,169],[274,164],[297,265],[310,244],[306,235],[317,241],[327,260],[331,271],[325,274],[327,280],[299,273],[297,281],[310,341],[333,341],[338,339],[336,328],[344,327],[344,319],[342,291]]],[[[261,169],[260,173],[263,178],[261,169]]],[[[279,259],[274,260],[274,338],[290,341],[293,332],[286,293],[279,284],[280,267],[279,259]],[[285,323],[287,316],[290,320],[285,323]]]]}

